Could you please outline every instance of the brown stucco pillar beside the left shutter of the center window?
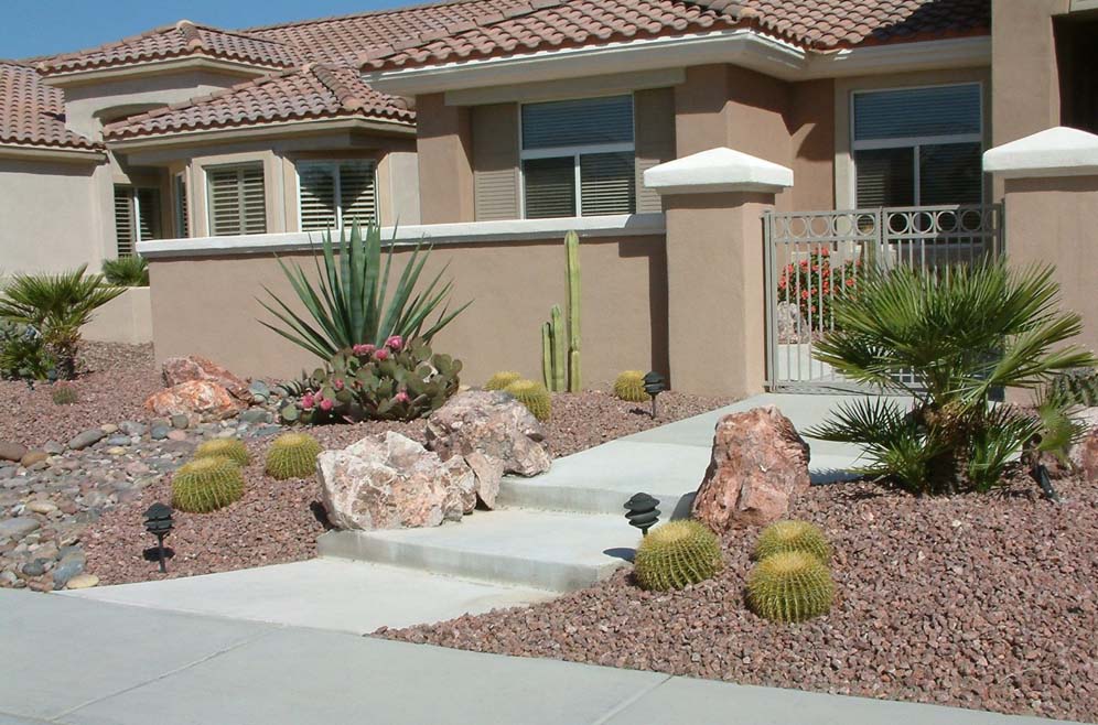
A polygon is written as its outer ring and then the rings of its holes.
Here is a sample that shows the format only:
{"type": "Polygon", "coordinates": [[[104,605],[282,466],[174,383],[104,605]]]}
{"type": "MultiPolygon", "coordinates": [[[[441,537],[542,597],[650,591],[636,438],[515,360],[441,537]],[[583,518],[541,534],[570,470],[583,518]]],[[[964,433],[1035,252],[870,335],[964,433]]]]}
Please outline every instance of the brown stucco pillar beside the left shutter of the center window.
{"type": "Polygon", "coordinates": [[[423,224],[473,220],[473,131],[470,109],[443,94],[416,99],[420,218],[423,224]]]}

